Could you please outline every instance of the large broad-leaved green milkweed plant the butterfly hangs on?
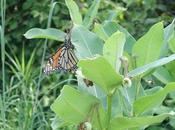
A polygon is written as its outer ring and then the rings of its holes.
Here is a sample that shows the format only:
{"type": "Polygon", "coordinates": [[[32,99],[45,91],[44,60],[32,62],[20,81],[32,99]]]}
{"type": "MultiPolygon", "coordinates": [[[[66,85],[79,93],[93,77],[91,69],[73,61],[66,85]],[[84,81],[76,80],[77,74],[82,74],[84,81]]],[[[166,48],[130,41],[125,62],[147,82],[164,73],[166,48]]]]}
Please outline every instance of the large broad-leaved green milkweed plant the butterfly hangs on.
{"type": "MultiPolygon", "coordinates": [[[[174,21],[166,27],[158,22],[136,40],[116,21],[94,24],[100,0],[92,2],[83,18],[73,0],[65,3],[73,22],[78,85],[65,85],[51,105],[52,129],[142,130],[164,120],[173,125],[174,108],[164,102],[167,95],[175,99],[174,21]]],[[[24,34],[56,41],[64,41],[65,35],[55,28],[24,34]]]]}

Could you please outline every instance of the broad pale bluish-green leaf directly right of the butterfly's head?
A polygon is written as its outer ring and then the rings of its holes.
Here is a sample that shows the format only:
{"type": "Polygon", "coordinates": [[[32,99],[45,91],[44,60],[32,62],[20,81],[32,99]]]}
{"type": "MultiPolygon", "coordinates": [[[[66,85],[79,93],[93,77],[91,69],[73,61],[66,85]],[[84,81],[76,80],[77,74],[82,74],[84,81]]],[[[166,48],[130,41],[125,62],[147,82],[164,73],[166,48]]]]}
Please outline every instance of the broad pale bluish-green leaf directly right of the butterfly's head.
{"type": "Polygon", "coordinates": [[[103,41],[83,26],[76,25],[72,30],[72,43],[79,59],[102,54],[103,41]]]}

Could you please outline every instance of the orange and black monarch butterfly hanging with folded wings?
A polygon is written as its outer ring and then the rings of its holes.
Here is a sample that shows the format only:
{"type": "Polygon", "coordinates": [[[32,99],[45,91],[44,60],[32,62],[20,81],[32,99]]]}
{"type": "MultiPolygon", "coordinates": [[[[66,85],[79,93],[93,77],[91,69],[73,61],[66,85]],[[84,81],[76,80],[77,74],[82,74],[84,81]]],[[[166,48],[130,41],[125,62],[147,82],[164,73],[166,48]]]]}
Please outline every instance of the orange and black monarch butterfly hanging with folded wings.
{"type": "Polygon", "coordinates": [[[44,73],[50,74],[54,70],[64,72],[75,72],[78,59],[74,54],[74,46],[71,43],[70,35],[65,37],[64,44],[58,48],[57,52],[49,58],[44,68],[44,73]]]}

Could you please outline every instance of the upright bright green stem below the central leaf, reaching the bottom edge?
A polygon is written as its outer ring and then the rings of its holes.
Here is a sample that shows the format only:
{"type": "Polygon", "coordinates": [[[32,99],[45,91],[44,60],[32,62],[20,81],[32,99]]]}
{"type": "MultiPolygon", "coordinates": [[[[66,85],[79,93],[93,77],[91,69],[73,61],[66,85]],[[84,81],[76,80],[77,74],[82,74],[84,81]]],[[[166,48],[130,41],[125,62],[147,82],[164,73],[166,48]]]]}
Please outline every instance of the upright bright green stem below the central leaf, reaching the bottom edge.
{"type": "Polygon", "coordinates": [[[107,129],[110,130],[110,120],[111,120],[111,111],[112,111],[112,94],[107,95],[107,105],[108,105],[108,113],[107,113],[107,129]]]}

